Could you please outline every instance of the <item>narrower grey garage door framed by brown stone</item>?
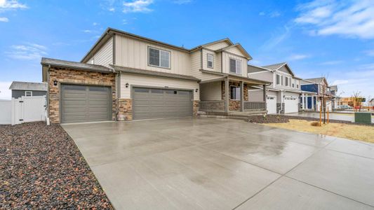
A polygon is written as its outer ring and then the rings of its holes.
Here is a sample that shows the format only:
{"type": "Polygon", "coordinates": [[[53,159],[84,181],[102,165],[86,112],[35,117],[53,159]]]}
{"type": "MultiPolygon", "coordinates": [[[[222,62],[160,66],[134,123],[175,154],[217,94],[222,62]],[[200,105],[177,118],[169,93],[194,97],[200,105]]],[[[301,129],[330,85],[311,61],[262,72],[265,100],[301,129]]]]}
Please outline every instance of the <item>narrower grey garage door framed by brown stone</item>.
{"type": "Polygon", "coordinates": [[[61,123],[112,120],[112,88],[61,85],[61,123]]]}

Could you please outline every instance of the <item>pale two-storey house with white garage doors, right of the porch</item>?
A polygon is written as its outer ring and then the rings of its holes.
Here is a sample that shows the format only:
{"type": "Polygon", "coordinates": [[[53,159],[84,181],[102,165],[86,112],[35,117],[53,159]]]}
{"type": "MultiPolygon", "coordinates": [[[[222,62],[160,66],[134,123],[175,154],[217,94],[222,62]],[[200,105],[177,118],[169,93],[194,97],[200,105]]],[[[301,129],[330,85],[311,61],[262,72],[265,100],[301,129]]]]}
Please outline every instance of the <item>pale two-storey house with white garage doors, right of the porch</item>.
{"type": "MultiPolygon", "coordinates": [[[[272,64],[268,66],[249,65],[248,77],[259,80],[267,80],[272,85],[267,86],[267,112],[268,113],[294,113],[299,111],[300,102],[300,78],[286,63],[272,64]]],[[[249,90],[249,100],[255,102],[260,99],[262,88],[249,90]]]]}

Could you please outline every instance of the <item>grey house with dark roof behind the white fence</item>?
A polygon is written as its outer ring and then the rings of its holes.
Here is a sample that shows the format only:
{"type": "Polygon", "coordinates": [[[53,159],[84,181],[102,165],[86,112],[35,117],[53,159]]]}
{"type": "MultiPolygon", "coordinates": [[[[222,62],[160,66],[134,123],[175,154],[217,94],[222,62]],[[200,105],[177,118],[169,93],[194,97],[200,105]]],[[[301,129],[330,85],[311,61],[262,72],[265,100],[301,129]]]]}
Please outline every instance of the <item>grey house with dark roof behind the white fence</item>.
{"type": "Polygon", "coordinates": [[[47,83],[29,83],[13,81],[9,90],[12,90],[12,98],[44,96],[47,94],[47,83]]]}

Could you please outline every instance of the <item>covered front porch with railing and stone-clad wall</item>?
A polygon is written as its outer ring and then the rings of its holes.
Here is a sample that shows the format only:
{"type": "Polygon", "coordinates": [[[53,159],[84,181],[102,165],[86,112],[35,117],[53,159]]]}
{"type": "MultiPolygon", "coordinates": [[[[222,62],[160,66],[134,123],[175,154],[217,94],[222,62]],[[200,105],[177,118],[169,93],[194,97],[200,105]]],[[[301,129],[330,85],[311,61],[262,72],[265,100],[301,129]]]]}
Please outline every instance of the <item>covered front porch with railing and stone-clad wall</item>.
{"type": "Polygon", "coordinates": [[[226,76],[200,83],[199,111],[222,116],[248,116],[267,113],[266,83],[250,78],[226,76]],[[263,94],[255,102],[249,102],[248,89],[262,85],[263,94]]]}

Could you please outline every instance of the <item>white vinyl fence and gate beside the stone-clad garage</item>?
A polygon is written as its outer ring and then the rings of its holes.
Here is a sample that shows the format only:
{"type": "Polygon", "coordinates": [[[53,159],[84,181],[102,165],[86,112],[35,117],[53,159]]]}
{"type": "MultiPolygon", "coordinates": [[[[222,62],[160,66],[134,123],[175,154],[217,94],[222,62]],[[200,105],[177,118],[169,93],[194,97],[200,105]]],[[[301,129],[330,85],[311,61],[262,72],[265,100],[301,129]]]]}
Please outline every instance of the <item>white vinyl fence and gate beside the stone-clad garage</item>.
{"type": "Polygon", "coordinates": [[[0,101],[0,107],[0,124],[16,125],[46,120],[45,96],[20,97],[13,98],[11,101],[0,101]]]}

